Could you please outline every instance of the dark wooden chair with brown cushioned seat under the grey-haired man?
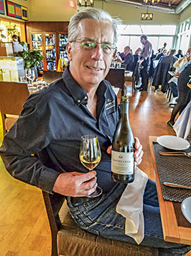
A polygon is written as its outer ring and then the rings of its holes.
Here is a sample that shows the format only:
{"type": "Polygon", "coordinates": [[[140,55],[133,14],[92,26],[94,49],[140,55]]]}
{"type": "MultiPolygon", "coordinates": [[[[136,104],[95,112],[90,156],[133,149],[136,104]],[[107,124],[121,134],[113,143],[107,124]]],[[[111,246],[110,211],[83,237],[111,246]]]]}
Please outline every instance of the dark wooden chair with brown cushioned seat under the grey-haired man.
{"type": "Polygon", "coordinates": [[[65,197],[60,194],[43,191],[43,200],[51,228],[51,256],[158,255],[158,249],[102,238],[80,229],[68,212],[65,197]]]}

